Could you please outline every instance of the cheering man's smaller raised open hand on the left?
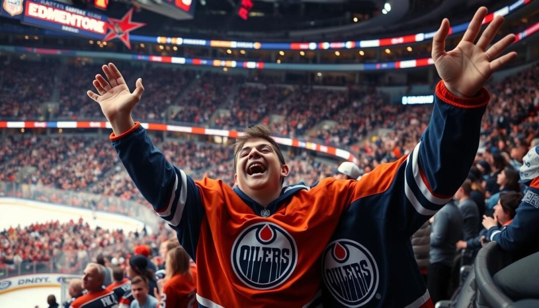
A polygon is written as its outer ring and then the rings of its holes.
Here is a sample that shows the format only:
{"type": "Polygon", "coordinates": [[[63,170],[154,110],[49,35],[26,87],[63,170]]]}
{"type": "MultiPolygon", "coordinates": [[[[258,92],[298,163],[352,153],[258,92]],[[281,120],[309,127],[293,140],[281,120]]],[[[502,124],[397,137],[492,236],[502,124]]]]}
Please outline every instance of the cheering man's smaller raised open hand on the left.
{"type": "Polygon", "coordinates": [[[101,111],[110,122],[114,134],[120,135],[135,125],[131,117],[131,111],[144,92],[142,79],[137,79],[135,91],[131,93],[122,74],[114,64],[103,65],[102,69],[108,81],[101,74],[97,74],[93,81],[95,90],[98,91],[99,95],[92,91],[86,93],[91,99],[99,103],[101,111]]]}

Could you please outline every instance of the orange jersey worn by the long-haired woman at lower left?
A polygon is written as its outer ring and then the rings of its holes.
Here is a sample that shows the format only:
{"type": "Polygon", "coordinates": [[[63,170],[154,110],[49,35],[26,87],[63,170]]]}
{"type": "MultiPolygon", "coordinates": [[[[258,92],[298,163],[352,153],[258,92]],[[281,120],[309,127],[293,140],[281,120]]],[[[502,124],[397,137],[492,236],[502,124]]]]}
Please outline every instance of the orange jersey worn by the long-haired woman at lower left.
{"type": "Polygon", "coordinates": [[[163,286],[160,308],[194,308],[197,307],[197,267],[191,265],[190,276],[172,276],[163,286]]]}

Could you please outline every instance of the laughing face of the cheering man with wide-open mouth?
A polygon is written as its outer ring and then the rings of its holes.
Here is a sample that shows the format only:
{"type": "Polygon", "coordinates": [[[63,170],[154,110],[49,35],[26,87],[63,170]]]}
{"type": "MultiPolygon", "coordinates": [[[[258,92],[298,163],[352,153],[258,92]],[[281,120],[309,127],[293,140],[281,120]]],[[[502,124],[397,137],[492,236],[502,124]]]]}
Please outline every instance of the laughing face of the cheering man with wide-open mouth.
{"type": "Polygon", "coordinates": [[[260,189],[280,189],[281,179],[287,175],[288,167],[281,166],[277,152],[264,139],[248,140],[238,152],[234,177],[238,187],[245,193],[260,189]]]}

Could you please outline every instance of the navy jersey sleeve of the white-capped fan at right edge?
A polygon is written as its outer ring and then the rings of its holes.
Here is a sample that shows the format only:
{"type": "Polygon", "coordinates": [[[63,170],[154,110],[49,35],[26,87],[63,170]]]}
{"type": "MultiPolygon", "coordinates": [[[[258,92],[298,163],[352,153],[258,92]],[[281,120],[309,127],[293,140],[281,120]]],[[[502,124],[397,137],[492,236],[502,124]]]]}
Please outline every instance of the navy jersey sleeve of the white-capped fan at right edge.
{"type": "Polygon", "coordinates": [[[519,251],[537,245],[539,235],[539,178],[532,182],[519,207],[515,218],[505,229],[488,229],[488,239],[497,242],[503,250],[519,251]]]}

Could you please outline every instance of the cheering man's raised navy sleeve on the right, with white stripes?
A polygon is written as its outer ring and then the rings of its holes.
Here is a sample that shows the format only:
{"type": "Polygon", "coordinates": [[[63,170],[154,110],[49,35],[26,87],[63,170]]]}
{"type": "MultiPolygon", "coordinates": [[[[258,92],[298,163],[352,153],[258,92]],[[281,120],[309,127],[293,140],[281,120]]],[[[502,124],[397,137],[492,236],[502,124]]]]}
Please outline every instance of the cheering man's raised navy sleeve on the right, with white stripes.
{"type": "Polygon", "coordinates": [[[479,146],[481,118],[489,94],[462,99],[440,81],[431,121],[406,160],[404,213],[406,234],[413,234],[437,213],[466,180],[479,146]],[[409,207],[411,204],[412,207],[409,207]]]}

